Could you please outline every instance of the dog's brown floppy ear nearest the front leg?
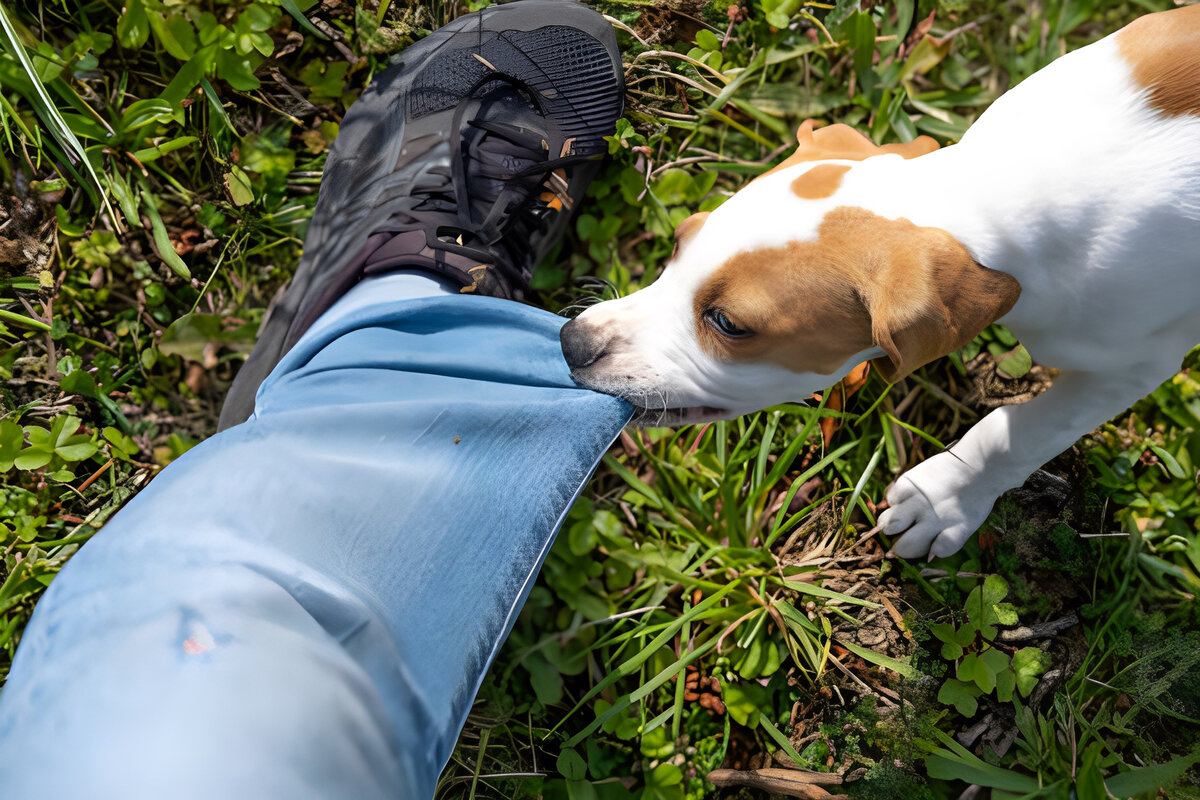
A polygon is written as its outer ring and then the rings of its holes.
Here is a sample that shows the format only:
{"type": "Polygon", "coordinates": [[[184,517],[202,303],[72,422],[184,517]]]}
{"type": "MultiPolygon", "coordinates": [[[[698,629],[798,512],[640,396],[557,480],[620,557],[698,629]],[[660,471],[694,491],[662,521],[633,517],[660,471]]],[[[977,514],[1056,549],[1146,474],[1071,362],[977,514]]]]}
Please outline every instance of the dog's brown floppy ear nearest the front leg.
{"type": "Polygon", "coordinates": [[[888,383],[964,347],[1008,313],[1021,294],[1016,278],[977,263],[937,228],[889,221],[886,265],[862,291],[871,336],[886,354],[872,366],[888,383]]]}

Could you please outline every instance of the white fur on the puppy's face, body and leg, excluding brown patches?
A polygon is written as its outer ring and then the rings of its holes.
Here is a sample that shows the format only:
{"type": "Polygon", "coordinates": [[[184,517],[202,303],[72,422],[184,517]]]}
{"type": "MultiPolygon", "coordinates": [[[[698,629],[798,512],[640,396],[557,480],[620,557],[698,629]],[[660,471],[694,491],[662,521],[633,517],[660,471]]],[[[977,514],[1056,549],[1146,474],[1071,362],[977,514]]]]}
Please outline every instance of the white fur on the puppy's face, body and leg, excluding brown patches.
{"type": "Polygon", "coordinates": [[[816,237],[857,206],[942,228],[1021,296],[1001,320],[1063,371],[1033,402],[992,411],[888,492],[883,530],[904,557],[958,551],[996,498],[1178,369],[1200,341],[1200,119],[1145,102],[1114,37],[1068,54],[997,100],[962,140],[918,158],[852,167],[833,197],[798,198],[799,164],[714,211],[662,277],[581,319],[620,331],[587,385],[642,405],[736,416],[828,386],[829,375],[718,361],[696,341],[692,296],[736,253],[816,237]],[[611,360],[611,362],[610,362],[611,360]]]}

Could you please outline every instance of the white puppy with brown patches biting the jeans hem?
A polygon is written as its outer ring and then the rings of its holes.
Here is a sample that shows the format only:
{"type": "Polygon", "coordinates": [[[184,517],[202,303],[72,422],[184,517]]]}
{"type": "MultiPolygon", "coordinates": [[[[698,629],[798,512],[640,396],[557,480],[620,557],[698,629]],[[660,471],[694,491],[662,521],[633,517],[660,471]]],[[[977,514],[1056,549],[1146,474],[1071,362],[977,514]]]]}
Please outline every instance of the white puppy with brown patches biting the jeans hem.
{"type": "Polygon", "coordinates": [[[1063,55],[952,146],[797,138],[678,227],[658,281],[562,329],[577,383],[660,423],[731,419],[863,361],[899,381],[1002,321],[1054,385],[902,474],[878,518],[894,554],[941,557],[1200,341],[1200,6],[1063,55]]]}

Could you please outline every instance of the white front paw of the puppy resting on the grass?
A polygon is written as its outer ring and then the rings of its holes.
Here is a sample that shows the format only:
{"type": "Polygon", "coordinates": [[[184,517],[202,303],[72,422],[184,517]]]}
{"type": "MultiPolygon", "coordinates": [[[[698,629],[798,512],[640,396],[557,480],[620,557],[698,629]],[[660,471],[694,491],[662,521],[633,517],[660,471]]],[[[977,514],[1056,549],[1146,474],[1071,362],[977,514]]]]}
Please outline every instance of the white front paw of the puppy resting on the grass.
{"type": "Polygon", "coordinates": [[[878,522],[884,534],[900,536],[892,552],[901,558],[950,555],[988,518],[997,497],[977,471],[942,452],[892,485],[878,522]]]}

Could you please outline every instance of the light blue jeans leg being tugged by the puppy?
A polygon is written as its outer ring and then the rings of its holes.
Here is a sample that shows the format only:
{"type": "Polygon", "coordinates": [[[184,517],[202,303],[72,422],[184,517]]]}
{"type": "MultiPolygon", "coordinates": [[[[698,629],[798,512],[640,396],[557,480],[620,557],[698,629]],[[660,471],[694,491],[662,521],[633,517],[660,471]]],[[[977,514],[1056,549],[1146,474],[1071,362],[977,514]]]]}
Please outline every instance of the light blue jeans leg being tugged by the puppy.
{"type": "Polygon", "coordinates": [[[74,555],[0,694],[0,796],[433,794],[630,415],[563,319],[449,291],[356,285],[74,555]]]}

